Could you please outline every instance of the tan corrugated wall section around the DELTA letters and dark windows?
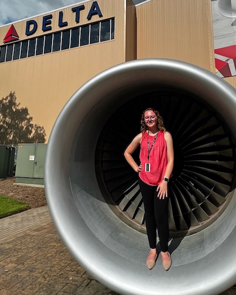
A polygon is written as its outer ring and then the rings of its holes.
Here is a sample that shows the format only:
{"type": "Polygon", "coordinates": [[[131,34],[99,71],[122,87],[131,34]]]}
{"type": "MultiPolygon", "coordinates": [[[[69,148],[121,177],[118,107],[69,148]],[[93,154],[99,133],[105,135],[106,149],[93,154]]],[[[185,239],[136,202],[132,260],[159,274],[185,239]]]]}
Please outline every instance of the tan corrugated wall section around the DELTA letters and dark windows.
{"type": "MultiPolygon", "coordinates": [[[[92,2],[86,2],[85,6],[90,8],[92,2]]],[[[72,94],[96,74],[126,60],[126,1],[99,0],[98,3],[103,17],[94,16],[91,21],[115,17],[114,40],[0,63],[0,98],[15,91],[17,102],[28,108],[33,123],[45,128],[46,140],[60,110],[72,94]]],[[[74,22],[75,14],[72,12],[71,17],[74,22]]],[[[22,23],[25,25],[26,21],[14,24],[17,31],[23,27],[22,23]]],[[[2,39],[8,30],[6,27],[0,28],[2,39]]]]}

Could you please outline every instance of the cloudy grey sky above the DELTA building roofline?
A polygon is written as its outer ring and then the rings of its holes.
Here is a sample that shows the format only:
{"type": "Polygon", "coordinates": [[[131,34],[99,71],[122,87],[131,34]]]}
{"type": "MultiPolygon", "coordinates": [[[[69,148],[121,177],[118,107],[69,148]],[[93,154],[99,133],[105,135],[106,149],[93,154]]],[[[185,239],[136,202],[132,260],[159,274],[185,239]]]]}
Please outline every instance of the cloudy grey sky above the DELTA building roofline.
{"type": "MultiPolygon", "coordinates": [[[[78,2],[83,0],[1,0],[0,26],[78,2]]],[[[133,2],[136,4],[141,0],[133,0],[133,2]]]]}

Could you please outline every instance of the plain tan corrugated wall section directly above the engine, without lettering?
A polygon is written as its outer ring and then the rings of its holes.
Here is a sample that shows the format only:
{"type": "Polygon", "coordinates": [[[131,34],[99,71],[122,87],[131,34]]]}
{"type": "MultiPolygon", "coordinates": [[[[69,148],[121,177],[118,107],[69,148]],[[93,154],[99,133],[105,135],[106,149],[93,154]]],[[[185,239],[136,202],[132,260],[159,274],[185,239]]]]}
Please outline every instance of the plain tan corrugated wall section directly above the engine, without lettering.
{"type": "Polygon", "coordinates": [[[210,0],[152,0],[136,7],[137,58],[171,58],[215,72],[210,0]]]}

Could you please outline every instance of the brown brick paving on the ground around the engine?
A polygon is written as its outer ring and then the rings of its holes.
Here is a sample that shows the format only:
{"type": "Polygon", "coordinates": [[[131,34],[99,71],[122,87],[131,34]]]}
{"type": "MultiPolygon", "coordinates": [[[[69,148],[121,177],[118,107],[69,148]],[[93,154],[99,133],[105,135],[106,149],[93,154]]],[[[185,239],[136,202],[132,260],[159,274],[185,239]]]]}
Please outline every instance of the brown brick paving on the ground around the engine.
{"type": "MultiPolygon", "coordinates": [[[[78,265],[47,206],[0,219],[1,295],[119,295],[78,265]]],[[[221,295],[236,295],[232,287],[221,295]]]]}

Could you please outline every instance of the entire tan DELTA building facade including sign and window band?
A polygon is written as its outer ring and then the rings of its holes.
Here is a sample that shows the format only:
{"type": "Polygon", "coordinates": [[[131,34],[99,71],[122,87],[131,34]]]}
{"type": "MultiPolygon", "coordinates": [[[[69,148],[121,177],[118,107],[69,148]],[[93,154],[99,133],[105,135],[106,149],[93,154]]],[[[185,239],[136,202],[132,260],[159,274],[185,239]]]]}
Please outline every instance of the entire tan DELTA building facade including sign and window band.
{"type": "MultiPolygon", "coordinates": [[[[7,24],[0,28],[0,97],[14,93],[41,132],[31,142],[47,142],[73,93],[114,65],[170,58],[215,73],[213,2],[86,1],[7,24]]],[[[236,86],[234,76],[224,79],[236,86]]]]}

